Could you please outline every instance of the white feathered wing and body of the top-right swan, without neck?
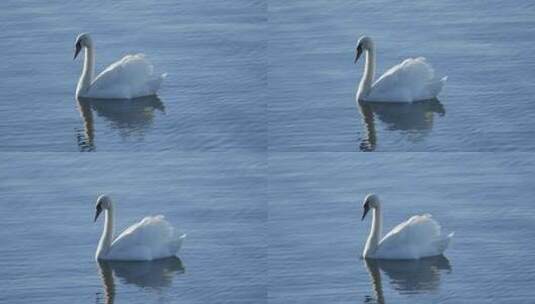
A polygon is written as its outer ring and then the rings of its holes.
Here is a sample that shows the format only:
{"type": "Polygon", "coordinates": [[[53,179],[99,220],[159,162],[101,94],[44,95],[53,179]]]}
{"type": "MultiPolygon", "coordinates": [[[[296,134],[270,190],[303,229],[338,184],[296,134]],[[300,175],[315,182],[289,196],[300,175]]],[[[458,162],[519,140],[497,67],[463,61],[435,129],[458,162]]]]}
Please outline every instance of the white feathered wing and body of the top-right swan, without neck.
{"type": "Polygon", "coordinates": [[[424,57],[408,58],[379,77],[366,100],[412,102],[433,99],[445,82],[446,78],[435,78],[435,71],[424,57]]]}

